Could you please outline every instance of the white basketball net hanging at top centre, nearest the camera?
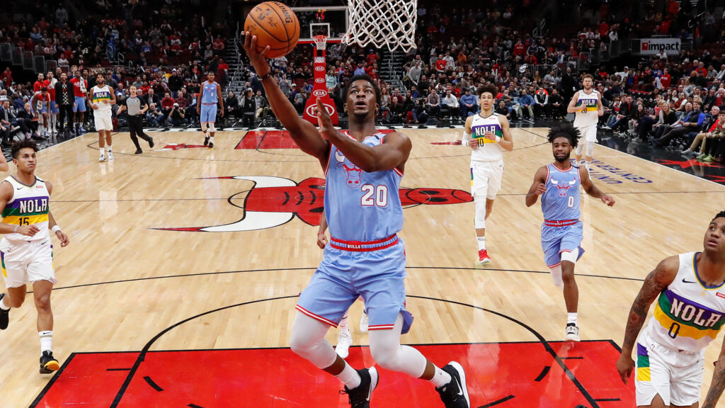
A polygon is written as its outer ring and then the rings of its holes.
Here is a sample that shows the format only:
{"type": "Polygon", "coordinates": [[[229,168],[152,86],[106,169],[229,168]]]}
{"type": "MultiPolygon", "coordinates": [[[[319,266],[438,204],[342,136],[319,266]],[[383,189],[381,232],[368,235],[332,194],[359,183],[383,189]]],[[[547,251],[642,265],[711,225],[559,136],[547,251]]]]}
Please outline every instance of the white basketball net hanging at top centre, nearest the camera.
{"type": "Polygon", "coordinates": [[[386,46],[390,51],[416,48],[418,0],[349,0],[347,9],[345,44],[386,46]]]}

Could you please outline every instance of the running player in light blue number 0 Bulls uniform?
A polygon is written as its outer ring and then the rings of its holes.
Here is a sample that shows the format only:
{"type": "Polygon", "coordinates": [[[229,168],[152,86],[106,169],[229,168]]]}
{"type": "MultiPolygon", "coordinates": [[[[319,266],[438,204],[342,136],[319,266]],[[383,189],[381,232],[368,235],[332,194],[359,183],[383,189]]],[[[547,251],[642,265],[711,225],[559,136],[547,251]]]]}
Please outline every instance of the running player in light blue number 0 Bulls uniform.
{"type": "Polygon", "coordinates": [[[567,322],[566,340],[579,341],[576,325],[576,309],[579,304],[579,288],[574,280],[574,264],[584,254],[581,249],[583,231],[579,211],[579,186],[588,195],[602,203],[614,205],[614,199],[605,195],[589,179],[586,168],[572,166],[571,150],[579,142],[579,130],[571,123],[563,123],[549,131],[549,142],[554,152],[554,163],[540,167],[534,175],[534,183],[526,194],[526,206],[531,207],[542,196],[542,248],[544,260],[554,279],[554,285],[564,287],[567,322]]]}

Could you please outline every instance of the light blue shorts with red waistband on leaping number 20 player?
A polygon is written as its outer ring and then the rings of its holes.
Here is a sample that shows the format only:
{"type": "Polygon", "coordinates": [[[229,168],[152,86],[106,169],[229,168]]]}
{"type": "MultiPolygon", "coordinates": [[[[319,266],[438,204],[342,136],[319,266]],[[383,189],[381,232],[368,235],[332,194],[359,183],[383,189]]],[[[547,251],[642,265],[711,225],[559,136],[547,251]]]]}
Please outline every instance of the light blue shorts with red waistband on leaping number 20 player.
{"type": "Polygon", "coordinates": [[[299,295],[297,310],[337,327],[345,311],[362,296],[370,319],[368,330],[392,329],[402,314],[402,332],[407,333],[413,315],[405,310],[405,245],[397,235],[388,241],[378,248],[354,242],[356,248],[341,249],[346,241],[333,238],[310,284],[299,295]]]}

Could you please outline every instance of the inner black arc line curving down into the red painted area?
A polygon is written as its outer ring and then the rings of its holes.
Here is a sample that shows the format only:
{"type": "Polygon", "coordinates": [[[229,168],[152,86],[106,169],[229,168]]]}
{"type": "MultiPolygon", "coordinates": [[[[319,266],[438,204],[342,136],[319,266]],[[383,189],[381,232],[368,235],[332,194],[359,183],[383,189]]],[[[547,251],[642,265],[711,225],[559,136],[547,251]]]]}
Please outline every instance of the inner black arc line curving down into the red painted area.
{"type": "MultiPolygon", "coordinates": [[[[146,354],[149,352],[149,349],[154,345],[154,343],[157,340],[159,340],[159,338],[162,338],[163,335],[165,335],[167,332],[170,332],[171,330],[183,325],[186,322],[190,322],[191,320],[194,320],[196,318],[204,317],[207,314],[216,313],[218,311],[233,309],[233,308],[236,308],[239,306],[247,306],[247,305],[254,304],[254,303],[262,303],[262,302],[266,302],[266,301],[278,301],[278,300],[298,298],[298,297],[299,297],[299,295],[287,295],[287,296],[278,296],[276,298],[257,299],[256,301],[236,303],[236,304],[229,305],[229,306],[223,306],[223,307],[220,307],[217,309],[212,309],[210,311],[204,311],[203,313],[196,314],[196,316],[188,317],[179,322],[176,322],[173,325],[170,325],[169,327],[167,327],[164,330],[157,333],[157,335],[154,335],[154,337],[151,340],[149,340],[149,342],[144,345],[144,348],[142,348],[141,351],[138,353],[138,356],[136,357],[136,362],[133,363],[133,367],[131,367],[131,370],[128,372],[128,375],[126,375],[126,378],[123,380],[123,384],[121,385],[118,393],[116,394],[115,399],[113,400],[110,408],[117,408],[121,399],[123,399],[123,395],[124,395],[125,391],[128,389],[128,385],[130,385],[131,380],[133,380],[133,376],[136,375],[136,371],[138,371],[138,367],[140,367],[141,363],[144,362],[144,360],[146,359],[146,354]]],[[[568,367],[566,367],[566,364],[564,364],[563,359],[561,357],[559,357],[558,354],[556,354],[556,351],[554,351],[554,349],[552,348],[552,346],[550,346],[549,342],[544,338],[544,336],[539,334],[539,332],[534,330],[529,325],[526,325],[525,323],[520,322],[519,320],[514,319],[513,317],[509,317],[498,311],[494,311],[492,309],[486,309],[481,306],[475,306],[475,305],[471,305],[468,303],[450,301],[450,300],[441,299],[441,298],[431,298],[429,296],[419,296],[419,295],[406,295],[406,297],[415,298],[415,299],[423,299],[423,300],[427,300],[427,301],[440,301],[440,302],[444,302],[444,303],[452,303],[452,304],[456,304],[459,306],[467,306],[471,309],[481,310],[486,313],[495,314],[498,317],[502,317],[504,319],[509,320],[510,322],[513,322],[513,323],[523,327],[524,329],[531,332],[531,334],[534,335],[534,337],[539,340],[539,343],[541,343],[542,346],[544,346],[544,349],[552,356],[552,358],[555,360],[555,362],[557,362],[557,364],[559,364],[560,368],[563,370],[563,372],[566,373],[569,380],[571,380],[571,382],[579,390],[581,395],[584,396],[584,398],[587,399],[587,401],[589,401],[589,404],[592,404],[592,408],[599,407],[599,405],[597,404],[597,401],[589,394],[589,391],[587,391],[587,389],[584,388],[584,385],[581,385],[581,383],[579,383],[579,380],[576,378],[576,376],[573,374],[573,372],[571,372],[571,370],[569,370],[568,367]]],[[[146,380],[146,381],[148,382],[148,380],[146,380]]],[[[509,397],[506,397],[506,399],[510,399],[509,397]]],[[[499,402],[497,402],[497,404],[498,403],[499,402]]],[[[486,406],[484,405],[484,407],[486,407],[486,406]]],[[[488,407],[492,407],[492,405],[488,405],[488,407]]]]}

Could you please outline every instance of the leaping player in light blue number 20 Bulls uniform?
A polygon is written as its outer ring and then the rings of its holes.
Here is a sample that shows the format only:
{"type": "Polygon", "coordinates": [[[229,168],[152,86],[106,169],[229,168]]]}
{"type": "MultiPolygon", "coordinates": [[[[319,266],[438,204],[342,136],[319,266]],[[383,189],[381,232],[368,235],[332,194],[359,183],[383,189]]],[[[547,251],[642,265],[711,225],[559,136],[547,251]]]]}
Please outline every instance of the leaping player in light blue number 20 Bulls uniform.
{"type": "MultiPolygon", "coordinates": [[[[413,322],[405,310],[405,247],[397,193],[412,144],[404,134],[381,134],[375,117],[380,89],[369,76],[353,76],[345,89],[349,131],[338,131],[317,100],[320,128],[302,120],[257,52],[257,37],[244,33],[244,50],[262,81],[275,115],[299,148],[326,173],[325,215],[330,242],[310,284],[299,296],[292,325],[292,351],[337,377],[351,407],[370,407],[378,385],[375,367],[355,370],[325,340],[362,295],[370,316],[370,353],[387,370],[430,381],[447,408],[469,408],[465,372],[457,362],[440,369],[420,351],[400,344],[413,322]]],[[[390,403],[383,404],[389,407],[390,403]]]]}

